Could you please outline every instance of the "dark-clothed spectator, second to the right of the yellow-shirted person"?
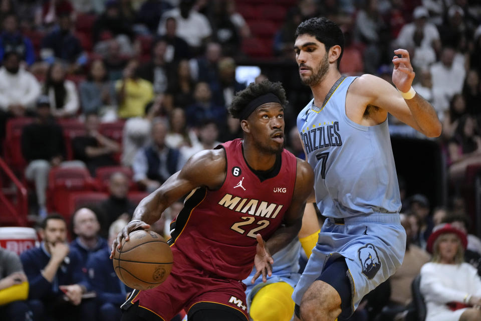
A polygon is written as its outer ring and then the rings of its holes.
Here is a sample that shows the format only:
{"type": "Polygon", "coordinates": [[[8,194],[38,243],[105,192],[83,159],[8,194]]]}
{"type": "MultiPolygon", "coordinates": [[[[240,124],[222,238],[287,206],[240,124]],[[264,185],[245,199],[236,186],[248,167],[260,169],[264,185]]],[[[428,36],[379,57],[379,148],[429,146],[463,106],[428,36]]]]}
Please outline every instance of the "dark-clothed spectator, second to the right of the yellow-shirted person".
{"type": "Polygon", "coordinates": [[[190,74],[189,62],[180,60],[169,81],[165,92],[165,108],[170,112],[174,107],[185,108],[194,102],[194,82],[190,74]]]}

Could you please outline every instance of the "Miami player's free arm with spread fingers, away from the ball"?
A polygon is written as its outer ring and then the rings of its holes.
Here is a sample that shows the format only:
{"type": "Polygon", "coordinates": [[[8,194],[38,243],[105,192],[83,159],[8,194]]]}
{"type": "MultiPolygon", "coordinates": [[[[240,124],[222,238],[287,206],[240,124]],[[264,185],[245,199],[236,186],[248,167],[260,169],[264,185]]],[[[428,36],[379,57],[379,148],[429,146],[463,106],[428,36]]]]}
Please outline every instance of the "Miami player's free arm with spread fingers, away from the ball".
{"type": "Polygon", "coordinates": [[[283,224],[265,244],[262,237],[258,235],[259,244],[256,257],[254,258],[256,274],[254,274],[252,282],[260,275],[262,275],[264,282],[267,280],[267,275],[270,276],[272,274],[271,264],[274,262],[272,255],[289,244],[289,242],[298,235],[302,225],[302,216],[304,207],[306,206],[306,200],[309,195],[311,195],[313,188],[314,172],[311,166],[301,159],[298,159],[296,185],[294,187],[291,206],[284,214],[283,224]]]}

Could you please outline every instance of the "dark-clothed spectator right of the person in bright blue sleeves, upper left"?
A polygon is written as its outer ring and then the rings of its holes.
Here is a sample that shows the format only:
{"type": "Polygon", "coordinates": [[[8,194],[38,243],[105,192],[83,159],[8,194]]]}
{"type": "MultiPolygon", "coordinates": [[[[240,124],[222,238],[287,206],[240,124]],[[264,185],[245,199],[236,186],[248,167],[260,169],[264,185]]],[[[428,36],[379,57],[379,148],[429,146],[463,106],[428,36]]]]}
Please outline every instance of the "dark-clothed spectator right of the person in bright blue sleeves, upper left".
{"type": "Polygon", "coordinates": [[[42,39],[41,58],[49,64],[57,59],[70,64],[70,70],[78,69],[87,62],[87,56],[80,41],[72,33],[70,13],[61,13],[58,27],[42,39]]]}

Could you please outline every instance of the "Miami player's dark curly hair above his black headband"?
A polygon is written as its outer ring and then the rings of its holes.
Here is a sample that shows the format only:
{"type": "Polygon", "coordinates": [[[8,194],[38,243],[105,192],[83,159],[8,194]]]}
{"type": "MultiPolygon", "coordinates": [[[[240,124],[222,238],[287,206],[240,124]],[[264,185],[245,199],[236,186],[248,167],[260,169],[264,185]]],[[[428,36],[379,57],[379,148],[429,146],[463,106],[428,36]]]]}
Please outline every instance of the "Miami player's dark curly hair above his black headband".
{"type": "Polygon", "coordinates": [[[281,105],[286,108],[289,101],[286,99],[286,91],[284,87],[282,87],[282,84],[280,82],[264,80],[258,84],[251,83],[246,89],[238,91],[232,99],[229,113],[232,117],[240,119],[244,109],[246,109],[251,101],[269,93],[276,95],[281,105]]]}

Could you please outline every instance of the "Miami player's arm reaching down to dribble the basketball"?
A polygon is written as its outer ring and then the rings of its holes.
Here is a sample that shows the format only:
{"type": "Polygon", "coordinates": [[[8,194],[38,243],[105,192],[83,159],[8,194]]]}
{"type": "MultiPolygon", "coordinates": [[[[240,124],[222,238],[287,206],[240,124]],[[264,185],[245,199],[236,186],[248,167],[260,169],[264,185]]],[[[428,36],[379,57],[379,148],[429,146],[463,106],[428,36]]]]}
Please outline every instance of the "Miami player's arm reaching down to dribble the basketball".
{"type": "Polygon", "coordinates": [[[193,155],[182,170],[140,201],[132,221],[122,229],[112,243],[110,258],[113,257],[115,247],[120,247],[122,238],[128,240],[130,232],[148,229],[149,224],[156,222],[166,208],[184,195],[198,187],[209,189],[220,187],[225,179],[225,162],[223,149],[208,149],[193,155]]]}

